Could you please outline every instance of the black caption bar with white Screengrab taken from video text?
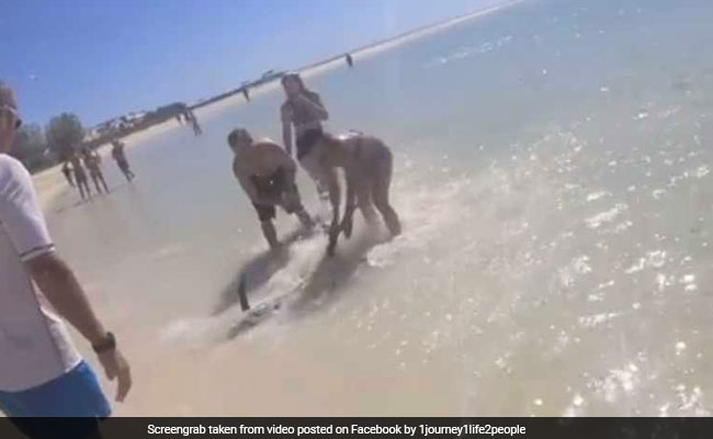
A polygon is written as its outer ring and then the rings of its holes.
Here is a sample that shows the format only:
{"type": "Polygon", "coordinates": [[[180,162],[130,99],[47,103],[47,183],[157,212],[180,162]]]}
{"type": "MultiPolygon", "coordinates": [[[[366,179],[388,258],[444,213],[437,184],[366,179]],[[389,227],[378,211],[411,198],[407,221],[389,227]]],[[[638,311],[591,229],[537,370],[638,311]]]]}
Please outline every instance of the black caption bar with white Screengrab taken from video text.
{"type": "Polygon", "coordinates": [[[546,438],[703,439],[709,418],[24,418],[0,419],[0,438],[546,438]],[[18,424],[18,420],[14,421],[18,424]],[[99,425],[99,431],[97,430],[99,425]],[[26,432],[23,435],[19,431],[26,432]]]}

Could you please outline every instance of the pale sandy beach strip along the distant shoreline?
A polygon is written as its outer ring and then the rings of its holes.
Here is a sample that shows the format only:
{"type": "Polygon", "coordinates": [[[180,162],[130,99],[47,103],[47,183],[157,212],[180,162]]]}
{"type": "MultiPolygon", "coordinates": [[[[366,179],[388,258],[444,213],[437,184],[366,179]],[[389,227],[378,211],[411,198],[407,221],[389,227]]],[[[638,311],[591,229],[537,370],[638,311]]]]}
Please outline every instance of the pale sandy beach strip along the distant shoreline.
{"type": "MultiPolygon", "coordinates": [[[[488,15],[494,12],[501,11],[506,8],[522,3],[525,0],[508,0],[503,1],[501,4],[495,4],[479,9],[477,11],[468,12],[455,18],[446,19],[433,24],[427,24],[407,32],[403,32],[398,35],[378,40],[374,43],[370,43],[360,47],[356,47],[351,50],[347,50],[340,55],[332,56],[330,58],[312,63],[306,66],[302,66],[295,69],[306,78],[316,77],[325,75],[326,72],[338,68],[344,64],[344,55],[350,54],[354,60],[364,59],[385,50],[393,49],[395,47],[401,46],[407,43],[418,41],[425,36],[431,35],[437,32],[444,31],[452,26],[468,22],[488,15]]],[[[259,97],[260,94],[270,92],[280,87],[280,83],[276,79],[261,83],[254,88],[250,88],[250,97],[259,97]]],[[[225,94],[225,93],[223,93],[225,94]]],[[[220,94],[218,94],[220,95],[220,94]]],[[[214,97],[215,98],[215,97],[214,97]]],[[[213,99],[213,98],[208,98],[213,99]]],[[[215,112],[223,111],[229,106],[246,104],[245,99],[242,98],[241,92],[234,92],[227,94],[220,99],[217,99],[210,104],[200,105],[195,108],[194,113],[199,119],[211,117],[215,112]]],[[[142,130],[135,133],[122,137],[121,140],[125,143],[126,149],[132,149],[139,146],[144,140],[161,135],[169,130],[181,127],[176,120],[170,119],[163,123],[152,125],[146,130],[142,130]]],[[[111,156],[111,145],[103,144],[97,148],[97,151],[101,155],[102,158],[107,158],[111,156]]],[[[111,158],[110,158],[111,160],[111,158]]],[[[57,164],[53,167],[43,169],[42,171],[34,173],[32,176],[33,182],[35,184],[35,191],[37,193],[37,200],[43,211],[50,209],[53,203],[68,190],[71,190],[65,180],[65,176],[60,171],[61,164],[57,164]]]]}

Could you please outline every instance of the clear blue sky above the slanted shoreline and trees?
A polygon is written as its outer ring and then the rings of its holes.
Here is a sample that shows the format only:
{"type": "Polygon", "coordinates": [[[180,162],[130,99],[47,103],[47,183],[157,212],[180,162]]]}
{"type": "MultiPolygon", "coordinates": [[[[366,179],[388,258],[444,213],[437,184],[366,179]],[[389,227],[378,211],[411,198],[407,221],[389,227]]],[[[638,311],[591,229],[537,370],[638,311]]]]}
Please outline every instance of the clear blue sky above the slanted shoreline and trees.
{"type": "Polygon", "coordinates": [[[0,0],[25,121],[191,102],[496,0],[0,0]]]}

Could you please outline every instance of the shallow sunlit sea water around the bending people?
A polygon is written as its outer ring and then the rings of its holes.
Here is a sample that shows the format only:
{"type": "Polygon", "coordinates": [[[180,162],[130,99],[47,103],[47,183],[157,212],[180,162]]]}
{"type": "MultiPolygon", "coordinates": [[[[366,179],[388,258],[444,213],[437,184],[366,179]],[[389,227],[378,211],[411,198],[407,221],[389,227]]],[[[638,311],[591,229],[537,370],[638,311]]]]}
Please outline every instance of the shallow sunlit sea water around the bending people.
{"type": "Polygon", "coordinates": [[[262,255],[231,176],[233,127],[280,140],[278,88],[132,148],[132,184],[105,164],[111,196],[48,221],[132,360],[116,413],[710,415],[712,21],[525,1],[305,75],[329,131],[395,154],[403,236],[359,222],[331,260],[262,255]],[[250,263],[250,301],[283,302],[247,325],[250,263]]]}

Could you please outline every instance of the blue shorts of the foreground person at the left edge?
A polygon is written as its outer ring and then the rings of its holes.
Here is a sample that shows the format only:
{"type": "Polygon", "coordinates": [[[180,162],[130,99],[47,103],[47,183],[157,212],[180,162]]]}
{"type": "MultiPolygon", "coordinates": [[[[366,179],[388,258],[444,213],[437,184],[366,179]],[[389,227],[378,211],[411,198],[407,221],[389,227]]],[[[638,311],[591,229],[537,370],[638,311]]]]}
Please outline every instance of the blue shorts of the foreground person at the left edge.
{"type": "Polygon", "coordinates": [[[0,391],[0,410],[9,417],[105,418],[111,406],[94,371],[84,361],[64,375],[22,392],[0,391]]]}

